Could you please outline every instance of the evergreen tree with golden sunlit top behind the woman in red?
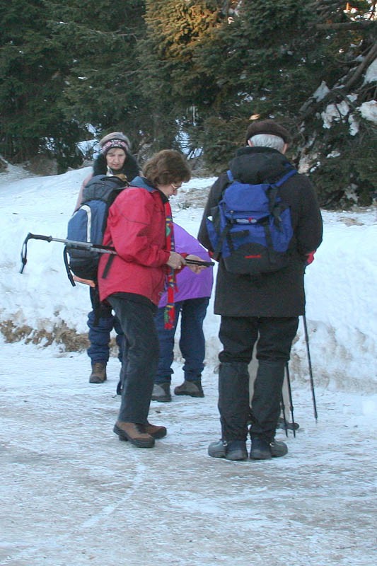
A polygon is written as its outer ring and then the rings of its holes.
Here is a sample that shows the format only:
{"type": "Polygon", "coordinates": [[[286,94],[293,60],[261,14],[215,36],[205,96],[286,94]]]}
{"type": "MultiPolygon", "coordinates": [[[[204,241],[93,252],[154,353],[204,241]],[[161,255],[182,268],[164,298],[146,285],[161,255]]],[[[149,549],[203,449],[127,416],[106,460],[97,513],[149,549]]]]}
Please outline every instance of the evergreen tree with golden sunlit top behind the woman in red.
{"type": "Polygon", "coordinates": [[[195,52],[203,37],[219,25],[219,4],[223,3],[146,1],[147,33],[146,40],[139,42],[139,57],[146,75],[144,93],[153,108],[152,149],[177,146],[192,108],[199,101],[213,100],[214,86],[205,69],[195,64],[195,52]]]}

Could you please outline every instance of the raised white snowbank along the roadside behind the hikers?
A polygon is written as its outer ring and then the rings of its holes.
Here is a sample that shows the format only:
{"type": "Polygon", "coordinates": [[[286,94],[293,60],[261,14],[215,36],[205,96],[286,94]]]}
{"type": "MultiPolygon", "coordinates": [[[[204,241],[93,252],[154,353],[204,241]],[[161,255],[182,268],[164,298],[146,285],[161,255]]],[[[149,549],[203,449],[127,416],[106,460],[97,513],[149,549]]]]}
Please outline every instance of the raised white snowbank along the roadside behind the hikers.
{"type": "MultiPolygon", "coordinates": [[[[64,175],[14,180],[0,174],[0,328],[7,340],[52,340],[81,348],[90,308],[88,289],[72,288],[59,243],[30,241],[20,275],[20,252],[28,232],[65,238],[66,223],[89,168],[64,175]],[[77,339],[77,336],[80,339],[77,339]]],[[[211,179],[193,179],[171,204],[175,221],[197,235],[211,179]],[[190,204],[190,206],[189,206],[190,204]]],[[[306,274],[308,337],[316,383],[328,388],[376,391],[377,304],[375,300],[377,218],[372,209],[324,213],[322,246],[306,274]]],[[[207,365],[216,371],[219,317],[212,304],[204,323],[207,365]]],[[[292,352],[292,378],[308,380],[301,323],[292,352]]]]}

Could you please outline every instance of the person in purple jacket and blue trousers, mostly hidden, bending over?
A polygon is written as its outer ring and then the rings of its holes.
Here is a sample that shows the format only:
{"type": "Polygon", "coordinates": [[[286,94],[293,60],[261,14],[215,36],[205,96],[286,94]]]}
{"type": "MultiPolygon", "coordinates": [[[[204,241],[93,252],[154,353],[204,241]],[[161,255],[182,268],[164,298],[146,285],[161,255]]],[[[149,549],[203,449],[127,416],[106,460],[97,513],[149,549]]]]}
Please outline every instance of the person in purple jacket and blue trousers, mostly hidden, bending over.
{"type": "MultiPolygon", "coordinates": [[[[175,251],[192,253],[205,261],[210,261],[207,250],[178,224],[174,224],[175,251]]],[[[174,336],[180,317],[179,347],[185,360],[183,373],[185,381],[175,387],[175,395],[204,397],[202,371],[204,369],[205,338],[203,322],[207,313],[209,297],[214,281],[213,267],[207,267],[199,274],[183,269],[177,275],[178,291],[174,295],[175,321],[171,330],[164,328],[163,311],[166,306],[166,293],[161,296],[156,315],[156,327],[160,344],[158,370],[154,380],[152,400],[171,401],[170,383],[174,359],[174,336]]]]}

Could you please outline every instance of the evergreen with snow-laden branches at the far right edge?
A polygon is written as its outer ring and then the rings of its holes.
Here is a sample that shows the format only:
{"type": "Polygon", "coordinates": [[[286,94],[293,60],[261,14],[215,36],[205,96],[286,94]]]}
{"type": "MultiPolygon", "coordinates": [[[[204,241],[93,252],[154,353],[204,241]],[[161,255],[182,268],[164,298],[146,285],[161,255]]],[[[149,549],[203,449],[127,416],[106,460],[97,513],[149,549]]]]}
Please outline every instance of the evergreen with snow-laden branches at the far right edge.
{"type": "Polygon", "coordinates": [[[336,54],[338,72],[318,77],[300,109],[305,163],[324,207],[371,204],[376,193],[376,2],[320,0],[315,37],[336,54]],[[374,70],[373,70],[374,69],[374,70]]]}

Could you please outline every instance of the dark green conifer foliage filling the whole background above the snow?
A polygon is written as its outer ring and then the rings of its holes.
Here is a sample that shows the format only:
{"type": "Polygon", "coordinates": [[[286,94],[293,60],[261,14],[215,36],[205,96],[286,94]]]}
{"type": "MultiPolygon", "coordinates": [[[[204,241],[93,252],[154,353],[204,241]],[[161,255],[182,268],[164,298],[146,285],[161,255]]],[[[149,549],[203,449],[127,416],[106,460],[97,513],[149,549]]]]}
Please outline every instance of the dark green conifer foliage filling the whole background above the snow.
{"type": "Polygon", "coordinates": [[[0,6],[0,154],[77,166],[127,132],[224,171],[250,120],[294,134],[323,206],[376,191],[376,1],[20,0],[0,6]]]}

